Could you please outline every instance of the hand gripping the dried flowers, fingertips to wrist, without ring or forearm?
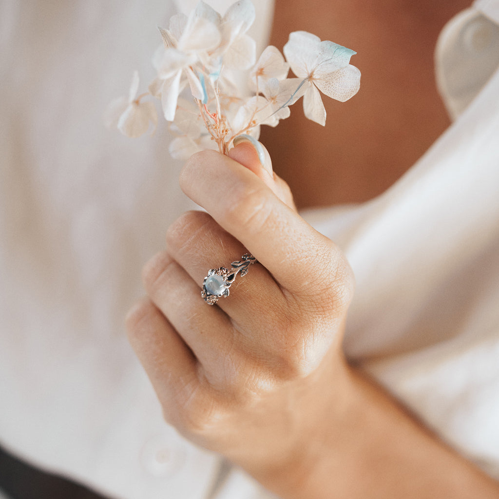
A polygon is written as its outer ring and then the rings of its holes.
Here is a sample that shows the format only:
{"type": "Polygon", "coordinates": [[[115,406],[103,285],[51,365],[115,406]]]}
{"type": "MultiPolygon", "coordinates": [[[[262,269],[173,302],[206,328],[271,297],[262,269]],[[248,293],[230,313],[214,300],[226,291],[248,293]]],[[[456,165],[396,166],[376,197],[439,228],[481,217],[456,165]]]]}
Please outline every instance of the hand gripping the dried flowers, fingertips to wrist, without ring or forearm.
{"type": "Polygon", "coordinates": [[[210,215],[190,212],[170,227],[166,251],[144,268],[148,298],[127,324],[165,418],[268,484],[305,473],[310,435],[342,407],[353,277],[249,143],[230,155],[238,162],[204,151],[185,165],[181,187],[210,215]],[[208,270],[248,251],[259,263],[207,305],[208,270]]]}

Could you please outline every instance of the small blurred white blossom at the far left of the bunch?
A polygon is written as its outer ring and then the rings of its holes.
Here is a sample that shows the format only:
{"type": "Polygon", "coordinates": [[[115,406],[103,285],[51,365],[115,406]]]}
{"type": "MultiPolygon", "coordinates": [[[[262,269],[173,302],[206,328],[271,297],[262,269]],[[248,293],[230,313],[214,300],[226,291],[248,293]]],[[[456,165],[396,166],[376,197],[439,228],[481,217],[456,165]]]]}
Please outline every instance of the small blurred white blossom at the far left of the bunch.
{"type": "Polygon", "coordinates": [[[153,131],[158,124],[158,115],[152,102],[143,102],[137,98],[139,73],[135,71],[130,84],[128,98],[118,97],[113,100],[104,113],[104,124],[108,128],[118,128],[127,137],[140,137],[153,124],[153,131]]]}

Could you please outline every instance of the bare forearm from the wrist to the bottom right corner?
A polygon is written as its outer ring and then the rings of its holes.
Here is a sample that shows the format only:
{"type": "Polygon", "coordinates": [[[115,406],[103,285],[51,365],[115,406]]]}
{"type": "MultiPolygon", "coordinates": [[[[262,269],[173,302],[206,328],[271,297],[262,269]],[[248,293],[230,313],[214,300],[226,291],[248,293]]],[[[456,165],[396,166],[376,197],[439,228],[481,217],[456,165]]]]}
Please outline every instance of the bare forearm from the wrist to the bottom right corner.
{"type": "Polygon", "coordinates": [[[496,481],[439,441],[381,388],[355,369],[346,368],[344,374],[348,394],[340,398],[342,409],[331,398],[329,414],[337,416],[310,434],[289,476],[270,480],[282,498],[499,497],[496,481]]]}

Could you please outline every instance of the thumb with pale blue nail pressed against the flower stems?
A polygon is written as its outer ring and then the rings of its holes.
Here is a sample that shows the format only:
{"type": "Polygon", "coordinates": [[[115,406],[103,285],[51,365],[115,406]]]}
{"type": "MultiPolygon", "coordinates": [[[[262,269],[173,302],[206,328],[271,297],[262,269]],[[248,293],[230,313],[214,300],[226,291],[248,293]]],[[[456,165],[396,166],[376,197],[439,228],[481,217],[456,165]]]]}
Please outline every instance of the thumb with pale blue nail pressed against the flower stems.
{"type": "Polygon", "coordinates": [[[250,135],[238,135],[229,157],[251,170],[272,192],[294,211],[293,195],[286,182],[272,171],[272,160],[265,146],[250,135]]]}

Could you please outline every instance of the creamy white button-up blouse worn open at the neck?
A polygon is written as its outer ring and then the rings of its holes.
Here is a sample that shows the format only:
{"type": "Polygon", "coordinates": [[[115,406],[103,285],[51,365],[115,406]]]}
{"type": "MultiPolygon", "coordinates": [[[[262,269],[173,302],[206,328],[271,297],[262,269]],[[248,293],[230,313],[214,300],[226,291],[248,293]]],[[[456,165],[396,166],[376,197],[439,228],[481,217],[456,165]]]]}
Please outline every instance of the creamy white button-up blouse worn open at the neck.
{"type": "MultiPolygon", "coordinates": [[[[263,43],[271,2],[255,3],[263,43]]],[[[153,76],[179,5],[0,4],[0,444],[111,498],[266,498],[164,423],[124,334],[141,266],[192,204],[165,123],[131,140],[101,115],[134,69],[153,76]]],[[[498,25],[499,0],[478,0],[444,29],[455,121],[401,180],[304,216],[356,275],[349,357],[499,479],[498,25]]]]}

